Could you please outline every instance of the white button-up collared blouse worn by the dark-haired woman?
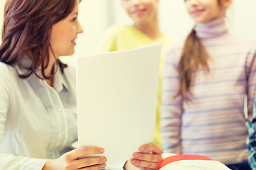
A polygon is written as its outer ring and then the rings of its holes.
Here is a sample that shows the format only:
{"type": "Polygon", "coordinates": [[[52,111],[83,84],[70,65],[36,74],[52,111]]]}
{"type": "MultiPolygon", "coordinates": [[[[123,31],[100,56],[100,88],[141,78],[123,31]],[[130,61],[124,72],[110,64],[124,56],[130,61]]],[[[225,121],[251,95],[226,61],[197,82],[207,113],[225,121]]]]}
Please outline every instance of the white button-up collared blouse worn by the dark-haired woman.
{"type": "MultiPolygon", "coordinates": [[[[21,65],[30,63],[24,57],[21,65]]],[[[57,69],[53,87],[17,72],[26,69],[0,62],[0,169],[42,169],[78,137],[75,69],[57,69]]]]}

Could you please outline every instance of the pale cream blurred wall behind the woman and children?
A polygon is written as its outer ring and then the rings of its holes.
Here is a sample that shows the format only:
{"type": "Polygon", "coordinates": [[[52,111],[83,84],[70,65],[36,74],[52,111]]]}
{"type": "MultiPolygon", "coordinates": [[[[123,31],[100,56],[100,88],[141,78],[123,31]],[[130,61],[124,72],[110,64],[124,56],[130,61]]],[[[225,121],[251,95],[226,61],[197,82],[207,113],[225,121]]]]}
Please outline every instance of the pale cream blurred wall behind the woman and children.
{"type": "MultiPolygon", "coordinates": [[[[0,26],[4,17],[4,4],[0,0],[0,26]]],[[[84,33],[78,35],[75,54],[61,57],[61,60],[75,66],[75,56],[95,53],[105,31],[112,24],[132,24],[121,6],[122,0],[82,0],[79,6],[78,19],[84,28],[84,33]]],[[[228,9],[228,23],[230,30],[239,35],[256,39],[256,1],[233,0],[228,9]]],[[[178,40],[186,38],[193,27],[193,21],[182,0],[159,0],[159,23],[161,32],[178,40]]],[[[1,40],[0,40],[1,42],[1,40]]]]}

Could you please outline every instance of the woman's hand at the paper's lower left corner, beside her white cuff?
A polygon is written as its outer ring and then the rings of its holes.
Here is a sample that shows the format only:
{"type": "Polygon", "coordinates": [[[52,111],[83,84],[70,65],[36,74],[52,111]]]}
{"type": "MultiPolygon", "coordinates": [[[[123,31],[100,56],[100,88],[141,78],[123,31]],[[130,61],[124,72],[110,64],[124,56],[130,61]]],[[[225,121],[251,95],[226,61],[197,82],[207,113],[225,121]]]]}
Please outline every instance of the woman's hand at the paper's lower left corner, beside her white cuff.
{"type": "Polygon", "coordinates": [[[104,152],[102,147],[80,147],[63,154],[58,159],[49,159],[42,170],[100,170],[106,166],[106,157],[82,157],[89,156],[90,154],[102,154],[104,152]]]}

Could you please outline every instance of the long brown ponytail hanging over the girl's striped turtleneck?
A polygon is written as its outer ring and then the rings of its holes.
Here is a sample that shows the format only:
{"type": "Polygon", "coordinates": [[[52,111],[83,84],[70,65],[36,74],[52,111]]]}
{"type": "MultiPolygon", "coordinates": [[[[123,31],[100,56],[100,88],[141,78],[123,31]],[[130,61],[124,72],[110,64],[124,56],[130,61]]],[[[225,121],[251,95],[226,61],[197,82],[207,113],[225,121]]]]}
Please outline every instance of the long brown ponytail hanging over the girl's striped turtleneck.
{"type": "MultiPolygon", "coordinates": [[[[223,8],[222,2],[222,0],[218,0],[220,8],[223,8]]],[[[182,95],[186,101],[191,99],[188,93],[190,92],[189,88],[191,86],[192,73],[195,72],[199,66],[210,72],[208,53],[196,36],[196,31],[193,28],[186,38],[183,52],[181,53],[181,60],[178,64],[179,86],[175,97],[182,95]]]]}

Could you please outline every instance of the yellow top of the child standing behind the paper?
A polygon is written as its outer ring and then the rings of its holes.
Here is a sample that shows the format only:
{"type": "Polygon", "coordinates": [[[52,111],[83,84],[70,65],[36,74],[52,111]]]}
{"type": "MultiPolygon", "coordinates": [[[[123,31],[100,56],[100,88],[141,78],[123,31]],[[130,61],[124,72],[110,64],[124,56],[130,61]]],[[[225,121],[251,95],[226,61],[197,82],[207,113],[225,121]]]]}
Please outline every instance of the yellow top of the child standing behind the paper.
{"type": "Polygon", "coordinates": [[[157,106],[156,106],[156,123],[154,132],[154,143],[161,147],[161,135],[159,128],[159,113],[161,107],[161,75],[162,67],[164,63],[164,49],[166,45],[171,42],[171,38],[166,35],[162,35],[161,38],[157,40],[151,40],[146,34],[142,33],[134,26],[111,26],[107,33],[105,34],[104,40],[102,40],[102,45],[100,45],[100,50],[98,52],[110,52],[110,51],[120,51],[120,50],[130,50],[137,47],[142,47],[144,45],[150,45],[156,42],[162,42],[162,55],[159,70],[159,89],[157,96],[157,106]]]}

